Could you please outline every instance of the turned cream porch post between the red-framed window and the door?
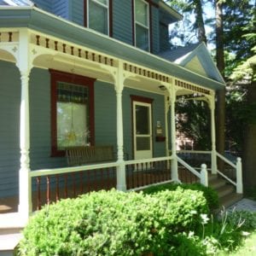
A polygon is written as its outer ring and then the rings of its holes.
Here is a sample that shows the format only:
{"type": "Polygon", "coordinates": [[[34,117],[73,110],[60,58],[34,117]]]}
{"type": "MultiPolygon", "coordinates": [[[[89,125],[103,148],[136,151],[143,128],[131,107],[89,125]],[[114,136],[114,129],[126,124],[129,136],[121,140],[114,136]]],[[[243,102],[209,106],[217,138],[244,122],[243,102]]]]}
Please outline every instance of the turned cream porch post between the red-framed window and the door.
{"type": "Polygon", "coordinates": [[[124,130],[123,130],[123,104],[122,93],[124,90],[123,62],[119,62],[115,78],[115,91],[117,102],[117,156],[119,166],[117,167],[117,189],[126,190],[125,161],[124,161],[124,130]]]}

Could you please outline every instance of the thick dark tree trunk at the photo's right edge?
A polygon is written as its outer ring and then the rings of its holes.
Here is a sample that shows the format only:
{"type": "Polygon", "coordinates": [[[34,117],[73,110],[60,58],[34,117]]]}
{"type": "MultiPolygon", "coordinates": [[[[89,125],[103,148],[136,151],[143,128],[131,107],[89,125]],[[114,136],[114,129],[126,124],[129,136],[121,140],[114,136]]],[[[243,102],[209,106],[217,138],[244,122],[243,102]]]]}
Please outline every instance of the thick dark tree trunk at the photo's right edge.
{"type": "MultiPolygon", "coordinates": [[[[253,67],[256,73],[256,66],[253,67]]],[[[248,85],[247,102],[249,106],[256,102],[256,80],[248,85]]],[[[253,110],[255,111],[255,110],[253,110]]],[[[255,118],[247,124],[243,146],[243,181],[244,189],[251,189],[256,186],[256,120],[255,118]]]]}

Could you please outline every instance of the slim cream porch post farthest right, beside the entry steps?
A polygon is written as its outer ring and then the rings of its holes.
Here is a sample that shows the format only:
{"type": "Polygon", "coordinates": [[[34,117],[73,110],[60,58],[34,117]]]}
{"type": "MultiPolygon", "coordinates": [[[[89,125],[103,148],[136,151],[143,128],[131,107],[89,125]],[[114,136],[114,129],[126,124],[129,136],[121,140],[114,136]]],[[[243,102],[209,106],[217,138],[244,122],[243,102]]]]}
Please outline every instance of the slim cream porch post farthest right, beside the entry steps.
{"type": "Polygon", "coordinates": [[[217,154],[216,154],[216,131],[215,131],[215,93],[209,98],[209,108],[211,110],[211,137],[212,137],[212,174],[217,174],[217,154]]]}

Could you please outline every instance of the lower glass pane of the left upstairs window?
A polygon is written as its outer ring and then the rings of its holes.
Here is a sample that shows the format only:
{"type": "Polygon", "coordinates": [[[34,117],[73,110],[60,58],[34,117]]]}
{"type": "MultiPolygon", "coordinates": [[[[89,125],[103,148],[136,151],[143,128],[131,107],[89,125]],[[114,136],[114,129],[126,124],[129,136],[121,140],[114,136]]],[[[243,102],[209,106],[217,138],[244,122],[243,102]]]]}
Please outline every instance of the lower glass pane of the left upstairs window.
{"type": "Polygon", "coordinates": [[[89,27],[108,34],[108,9],[89,1],[89,27]]]}

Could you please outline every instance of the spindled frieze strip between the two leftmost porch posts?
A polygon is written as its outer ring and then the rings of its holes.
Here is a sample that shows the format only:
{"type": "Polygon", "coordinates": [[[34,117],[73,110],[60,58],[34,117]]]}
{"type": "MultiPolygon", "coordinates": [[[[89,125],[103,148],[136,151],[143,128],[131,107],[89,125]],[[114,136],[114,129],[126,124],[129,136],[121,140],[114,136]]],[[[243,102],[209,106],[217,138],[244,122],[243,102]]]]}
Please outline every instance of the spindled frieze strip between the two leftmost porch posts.
{"type": "Polygon", "coordinates": [[[44,47],[46,49],[53,49],[63,54],[76,56],[87,61],[101,63],[111,67],[117,67],[116,61],[106,55],[98,54],[93,50],[83,50],[73,44],[63,44],[56,39],[46,38],[44,36],[32,35],[32,44],[44,47]]]}

